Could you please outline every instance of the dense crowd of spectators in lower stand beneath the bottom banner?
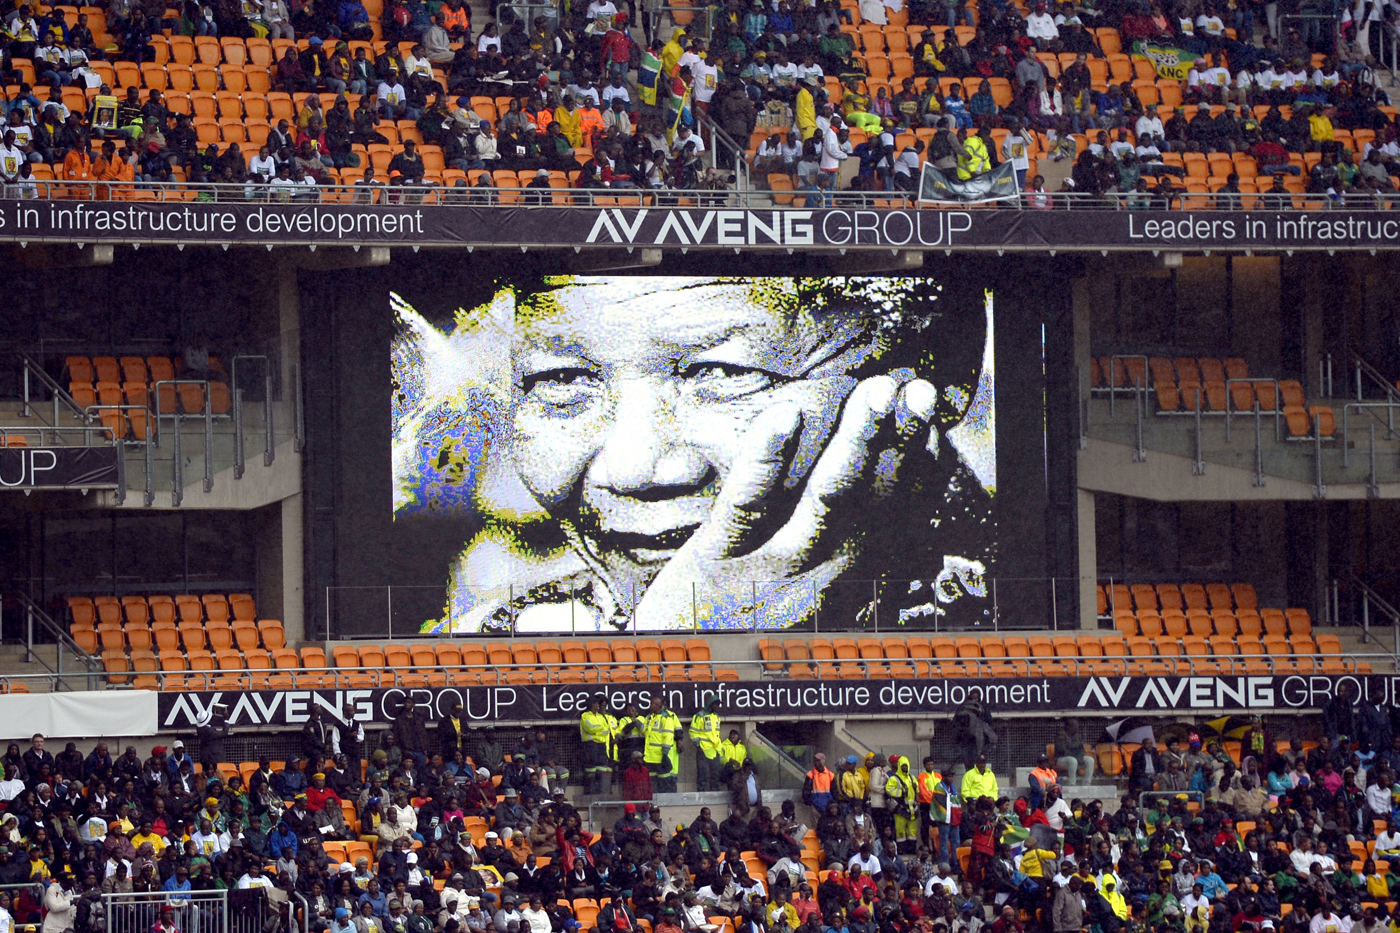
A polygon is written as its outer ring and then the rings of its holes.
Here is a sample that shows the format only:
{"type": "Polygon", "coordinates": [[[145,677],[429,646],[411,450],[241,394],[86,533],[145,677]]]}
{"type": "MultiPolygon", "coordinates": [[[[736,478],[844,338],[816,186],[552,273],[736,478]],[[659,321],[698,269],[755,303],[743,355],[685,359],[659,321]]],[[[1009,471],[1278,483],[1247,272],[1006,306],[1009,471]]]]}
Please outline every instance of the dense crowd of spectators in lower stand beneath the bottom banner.
{"type": "MultiPolygon", "coordinates": [[[[720,738],[717,703],[689,728],[659,702],[622,717],[594,706],[580,738],[596,740],[602,717],[606,769],[641,799],[592,828],[543,730],[507,749],[459,707],[428,728],[410,702],[370,749],[346,713],[318,712],[304,758],[280,769],[265,758],[246,782],[216,768],[218,714],[200,724],[200,768],[183,741],[147,758],[134,747],[113,758],[105,742],[55,755],[43,735],[11,744],[0,884],[38,884],[6,888],[15,897],[0,898],[0,923],[42,916],[45,933],[95,933],[102,894],[153,892],[171,933],[190,909],[182,895],[258,888],[291,905],[269,915],[279,923],[333,933],[1400,929],[1400,734],[1350,696],[1315,741],[1280,742],[1256,719],[1236,756],[1196,733],[1149,742],[1131,754],[1114,813],[1065,799],[1095,776],[1072,723],[1025,787],[986,752],[960,776],[962,762],[871,754],[833,769],[816,754],[801,790],[811,829],[792,800],[764,803],[738,734],[720,738]],[[728,813],[697,807],[672,824],[648,806],[650,778],[675,778],[682,744],[718,759],[699,773],[728,785],[728,813]]],[[[606,796],[591,751],[580,769],[606,796]]]]}

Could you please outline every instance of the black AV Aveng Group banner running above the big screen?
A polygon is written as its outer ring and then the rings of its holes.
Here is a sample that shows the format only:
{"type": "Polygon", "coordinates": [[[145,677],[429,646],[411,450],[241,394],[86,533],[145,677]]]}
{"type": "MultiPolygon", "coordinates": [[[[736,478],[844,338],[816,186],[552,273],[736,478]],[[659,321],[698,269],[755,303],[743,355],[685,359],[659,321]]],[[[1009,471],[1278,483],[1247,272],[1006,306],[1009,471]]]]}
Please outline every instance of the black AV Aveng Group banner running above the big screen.
{"type": "Polygon", "coordinates": [[[1393,249],[1382,210],[531,207],[0,200],[0,241],[666,249],[1393,249]]]}

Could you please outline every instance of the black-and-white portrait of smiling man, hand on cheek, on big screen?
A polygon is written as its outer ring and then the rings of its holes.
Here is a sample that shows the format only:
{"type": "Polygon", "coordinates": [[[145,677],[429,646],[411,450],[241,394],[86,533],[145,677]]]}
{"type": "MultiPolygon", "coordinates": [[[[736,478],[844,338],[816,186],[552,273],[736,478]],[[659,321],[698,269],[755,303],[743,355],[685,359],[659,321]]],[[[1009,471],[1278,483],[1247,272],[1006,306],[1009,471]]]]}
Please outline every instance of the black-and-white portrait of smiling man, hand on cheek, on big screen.
{"type": "Polygon", "coordinates": [[[990,293],[547,277],[445,325],[391,301],[395,521],[472,530],[424,632],[993,621],[990,293]]]}

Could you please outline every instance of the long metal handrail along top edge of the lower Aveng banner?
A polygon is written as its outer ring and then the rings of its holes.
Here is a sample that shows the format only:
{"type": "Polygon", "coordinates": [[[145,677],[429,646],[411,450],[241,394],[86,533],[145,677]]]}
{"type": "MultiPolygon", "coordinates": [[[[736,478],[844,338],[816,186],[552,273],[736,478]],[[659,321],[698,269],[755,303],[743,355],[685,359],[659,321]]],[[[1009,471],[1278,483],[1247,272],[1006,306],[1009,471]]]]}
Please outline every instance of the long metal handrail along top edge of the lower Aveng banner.
{"type": "MultiPolygon", "coordinates": [[[[122,677],[126,679],[141,677],[154,677],[160,686],[164,689],[167,679],[169,678],[175,684],[182,684],[183,689],[262,689],[263,685],[269,682],[283,682],[293,684],[298,682],[300,686],[315,686],[321,685],[328,689],[336,688],[343,689],[346,686],[399,686],[399,688],[416,688],[416,686],[430,686],[434,681],[438,686],[477,686],[477,685],[528,685],[528,684],[573,684],[581,689],[588,689],[595,684],[608,682],[627,682],[627,684],[693,684],[696,681],[690,679],[683,668],[708,665],[711,668],[734,670],[734,671],[750,671],[753,677],[749,679],[785,679],[790,677],[787,670],[784,671],[770,671],[767,665],[771,664],[791,664],[812,670],[812,677],[816,679],[827,679],[820,675],[819,671],[823,667],[830,668],[846,668],[850,670],[851,665],[860,668],[860,672],[865,678],[888,678],[893,677],[889,674],[890,665],[903,665],[914,671],[917,678],[949,678],[960,677],[967,679],[981,679],[981,678],[1007,678],[1011,675],[1025,675],[1029,672],[1032,677],[1056,678],[1056,677],[1098,677],[1098,675],[1147,675],[1144,671],[1147,667],[1165,665],[1169,671],[1154,671],[1155,674],[1187,677],[1197,674],[1222,674],[1222,675],[1278,675],[1278,674],[1295,674],[1299,672],[1301,667],[1308,667],[1310,670],[1301,671],[1303,674],[1312,674],[1320,670],[1320,665],[1327,658],[1343,660],[1343,663],[1350,663],[1351,667],[1345,672],[1355,672],[1357,664],[1380,664],[1380,665],[1400,665],[1400,658],[1387,651],[1361,654],[1355,651],[1345,653],[1344,657],[1338,656],[1324,656],[1324,654],[1210,654],[1201,657],[1193,657],[1189,654],[1182,656],[1161,656],[1161,654],[1112,654],[1112,656],[1093,656],[1093,657],[1007,657],[1007,658],[883,658],[883,660],[860,660],[860,658],[841,658],[841,660],[808,660],[808,661],[763,661],[763,660],[721,660],[721,661],[608,661],[608,663],[588,663],[588,664],[511,664],[508,668],[496,664],[421,664],[409,667],[364,667],[364,665],[340,665],[329,664],[328,667],[259,667],[259,668],[216,668],[216,670],[183,670],[183,671],[136,671],[132,668],[108,671],[109,675],[122,677]],[[1257,667],[1252,671],[1247,665],[1266,665],[1267,671],[1260,672],[1257,667]],[[1137,665],[1138,670],[1134,670],[1137,665]],[[1221,670],[1226,667],[1228,670],[1221,670]],[[1238,667],[1238,670],[1235,670],[1238,667]],[[575,677],[577,671],[591,670],[598,675],[598,679],[580,679],[575,677]],[[643,679],[637,674],[638,668],[651,668],[647,674],[647,679],[643,679]],[[1042,670],[1050,668],[1050,670],[1042,670]],[[567,678],[564,672],[568,672],[567,678]],[[634,679],[629,681],[612,681],[602,679],[603,674],[626,672],[631,674],[634,679]],[[539,675],[543,674],[543,679],[539,675]],[[668,677],[669,675],[669,677],[668,677]],[[200,686],[202,684],[202,686],[200,686]]],[[[217,661],[216,661],[217,663],[217,661]]],[[[6,677],[22,677],[22,675],[0,675],[0,682],[4,682],[6,677]]],[[[742,679],[742,678],[741,678],[742,679]]],[[[896,678],[899,679],[899,678],[896,678]]]]}

